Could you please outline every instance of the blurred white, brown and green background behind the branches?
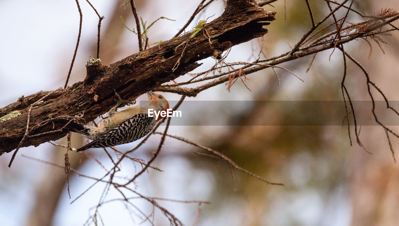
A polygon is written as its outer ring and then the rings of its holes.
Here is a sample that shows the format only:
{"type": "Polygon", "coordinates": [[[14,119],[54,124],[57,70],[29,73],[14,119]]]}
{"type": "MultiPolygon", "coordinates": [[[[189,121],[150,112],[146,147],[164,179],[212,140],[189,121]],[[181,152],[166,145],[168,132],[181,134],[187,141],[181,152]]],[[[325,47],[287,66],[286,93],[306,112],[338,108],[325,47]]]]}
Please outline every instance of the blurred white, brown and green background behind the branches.
{"type": "MultiPolygon", "coordinates": [[[[151,23],[160,16],[176,21],[160,20],[148,32],[149,43],[168,40],[186,23],[200,1],[137,1],[138,14],[151,23]]],[[[309,1],[315,20],[328,13],[324,1],[309,1]]],[[[135,28],[130,5],[126,8],[120,1],[92,1],[101,16],[100,58],[108,65],[138,52],[137,37],[122,24],[135,28]]],[[[98,17],[85,1],[80,1],[83,13],[81,42],[77,51],[69,85],[85,78],[85,63],[96,55],[98,17]]],[[[217,18],[224,10],[225,2],[216,0],[200,13],[188,27],[188,31],[200,19],[217,18]]],[[[277,1],[274,6],[264,6],[276,11],[276,20],[267,26],[269,33],[262,39],[233,47],[226,62],[253,61],[262,49],[267,57],[277,56],[290,50],[287,41],[294,45],[310,26],[305,1],[277,1]],[[284,16],[284,14],[286,14],[284,16]],[[286,19],[284,19],[284,17],[286,19]]],[[[381,9],[399,9],[396,0],[355,1],[354,8],[363,14],[374,15],[381,9]]],[[[75,1],[1,1],[0,2],[0,106],[15,102],[22,95],[40,90],[55,90],[64,85],[75,49],[79,28],[79,13],[75,1]]],[[[345,12],[342,12],[343,14],[345,12]]],[[[350,14],[348,21],[362,18],[350,14]]],[[[211,19],[209,19],[211,20],[211,19]]],[[[328,24],[332,21],[328,21],[328,24]]],[[[394,23],[398,25],[397,22],[394,23]]],[[[389,100],[398,100],[399,82],[399,36],[383,36],[387,42],[382,47],[373,43],[370,59],[369,46],[359,40],[345,45],[346,51],[368,70],[371,79],[381,88],[389,100]]],[[[304,57],[283,65],[304,80],[301,82],[284,70],[278,70],[280,84],[271,69],[248,75],[250,92],[237,82],[231,89],[221,84],[188,100],[342,100],[340,83],[343,75],[342,53],[336,50],[318,53],[312,68],[306,73],[311,57],[304,57]]],[[[194,72],[208,70],[213,59],[202,60],[203,65],[194,72]]],[[[188,80],[181,76],[176,82],[188,80]]],[[[346,86],[352,100],[369,100],[365,77],[359,68],[348,63],[346,86]]],[[[382,97],[374,92],[375,98],[382,97]]],[[[177,101],[179,95],[165,93],[166,99],[177,101]]],[[[142,96],[139,100],[145,100],[142,96]]],[[[291,115],[310,109],[281,109],[268,102],[254,102],[244,109],[227,109],[226,120],[280,121],[291,115]]],[[[184,105],[184,103],[183,103],[184,105]]],[[[192,120],[205,119],[211,109],[198,109],[190,115],[192,120]]],[[[371,113],[363,112],[366,115],[371,113]]],[[[359,113],[361,114],[361,113],[359,113]]],[[[178,118],[172,119],[179,120],[178,118]]],[[[261,124],[261,123],[260,123],[261,124]]],[[[200,125],[200,123],[199,123],[200,125]]],[[[1,124],[0,124],[1,127],[1,124]]],[[[390,127],[397,130],[395,126],[390,127]]],[[[164,129],[163,126],[160,130],[164,129]]],[[[358,127],[359,129],[359,127],[358,127]]],[[[229,166],[219,159],[201,156],[198,148],[172,138],[166,142],[153,166],[163,172],[149,170],[136,181],[138,192],[148,197],[178,200],[202,200],[198,225],[231,226],[364,226],[398,225],[399,172],[389,150],[385,131],[378,126],[361,127],[359,137],[367,151],[354,140],[350,146],[348,129],[336,126],[172,126],[170,134],[218,150],[234,160],[239,166],[269,181],[284,186],[267,185],[247,174],[235,171],[235,183],[229,166]]],[[[134,158],[150,159],[156,150],[159,135],[154,135],[134,158]]],[[[391,136],[393,148],[398,150],[399,140],[391,136]]],[[[80,147],[84,140],[73,134],[73,147],[80,147]]],[[[124,152],[140,140],[118,146],[124,152]]],[[[66,144],[66,139],[58,140],[66,144]]],[[[34,161],[34,157],[61,166],[64,165],[65,148],[49,143],[38,147],[22,148],[8,168],[11,154],[0,157],[0,222],[4,226],[69,226],[83,225],[93,214],[105,187],[98,183],[89,192],[70,204],[95,181],[75,174],[70,177],[69,199],[66,175],[62,168],[34,161]]],[[[115,156],[115,155],[114,155],[115,156]]],[[[101,149],[85,153],[69,152],[71,168],[93,177],[103,176],[113,164],[101,149]],[[97,163],[94,156],[101,165],[97,163]],[[104,168],[103,168],[104,167],[104,168]]],[[[122,164],[123,173],[131,177],[141,166],[134,168],[131,162],[122,164]]],[[[107,199],[121,198],[111,189],[107,199]]],[[[132,201],[143,212],[150,213],[152,205],[144,200],[132,201]]],[[[198,204],[159,201],[184,224],[196,221],[198,204]]],[[[132,208],[132,207],[130,207],[132,208]]],[[[138,210],[133,210],[133,212],[138,210]]],[[[122,202],[107,203],[99,208],[105,225],[136,225],[140,217],[129,214],[122,202]]],[[[155,212],[155,225],[168,225],[159,211],[155,212]]],[[[150,225],[144,222],[142,225],[150,225]]]]}

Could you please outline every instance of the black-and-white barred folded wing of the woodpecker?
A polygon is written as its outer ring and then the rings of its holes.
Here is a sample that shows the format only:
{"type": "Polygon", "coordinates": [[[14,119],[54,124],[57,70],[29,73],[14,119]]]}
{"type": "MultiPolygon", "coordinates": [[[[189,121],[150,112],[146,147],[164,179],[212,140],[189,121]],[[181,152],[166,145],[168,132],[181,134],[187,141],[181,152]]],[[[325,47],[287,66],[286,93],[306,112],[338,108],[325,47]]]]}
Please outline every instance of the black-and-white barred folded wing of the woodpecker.
{"type": "Polygon", "coordinates": [[[126,119],[119,126],[105,132],[99,138],[89,144],[77,149],[77,152],[89,148],[106,148],[119,144],[127,144],[138,140],[152,131],[155,126],[154,117],[148,117],[147,114],[139,113],[126,119]]]}

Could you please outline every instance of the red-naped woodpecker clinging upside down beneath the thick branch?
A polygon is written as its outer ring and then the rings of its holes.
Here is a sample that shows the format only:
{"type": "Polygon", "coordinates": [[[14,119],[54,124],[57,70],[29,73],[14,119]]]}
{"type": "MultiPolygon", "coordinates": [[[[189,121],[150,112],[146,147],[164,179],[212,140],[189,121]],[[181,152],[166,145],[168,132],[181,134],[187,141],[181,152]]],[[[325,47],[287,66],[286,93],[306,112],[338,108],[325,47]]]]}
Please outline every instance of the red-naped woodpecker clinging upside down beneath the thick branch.
{"type": "MultiPolygon", "coordinates": [[[[108,111],[108,117],[101,121],[99,127],[88,126],[71,121],[65,131],[77,132],[93,140],[89,144],[77,149],[77,152],[89,148],[106,148],[119,144],[127,144],[147,135],[154,129],[155,123],[164,118],[148,116],[148,109],[153,111],[167,111],[169,103],[164,96],[147,92],[149,105],[147,107],[129,107],[117,111],[121,103],[126,103],[119,98],[117,105],[108,111]]],[[[129,102],[130,103],[130,102],[129,102]]],[[[67,120],[63,120],[64,122],[67,120]]]]}

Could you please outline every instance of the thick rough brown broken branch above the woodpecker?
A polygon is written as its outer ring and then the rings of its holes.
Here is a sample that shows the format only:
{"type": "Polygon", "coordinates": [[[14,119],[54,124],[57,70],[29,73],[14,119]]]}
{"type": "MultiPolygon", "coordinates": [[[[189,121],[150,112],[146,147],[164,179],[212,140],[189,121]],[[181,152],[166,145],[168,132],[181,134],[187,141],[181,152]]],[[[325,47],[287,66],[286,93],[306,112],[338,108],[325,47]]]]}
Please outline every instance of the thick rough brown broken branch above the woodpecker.
{"type": "MultiPolygon", "coordinates": [[[[202,31],[191,39],[191,34],[188,33],[130,55],[109,66],[101,63],[89,64],[86,66],[87,75],[83,82],[77,82],[66,90],[51,94],[41,105],[32,109],[29,126],[32,128],[57,116],[74,116],[82,112],[86,121],[92,121],[115,105],[114,90],[122,99],[135,99],[164,82],[194,70],[200,65],[198,60],[209,56],[220,57],[223,51],[234,45],[265,35],[267,29],[263,28],[263,25],[269,23],[263,21],[274,20],[274,15],[275,12],[264,11],[253,0],[229,0],[223,14],[205,24],[211,45],[202,31]],[[188,42],[182,54],[183,47],[180,44],[186,40],[188,42]],[[180,65],[172,71],[180,56],[180,65]],[[97,101],[95,95],[98,95],[97,101]]],[[[14,110],[20,110],[21,113],[0,124],[0,155],[11,152],[18,146],[26,130],[28,105],[45,94],[47,92],[42,91],[0,109],[0,116],[14,110]]],[[[61,126],[57,122],[47,123],[35,131],[30,131],[29,135],[52,131],[61,126]]],[[[55,132],[34,138],[27,137],[21,146],[38,146],[49,140],[57,140],[65,134],[55,132]]]]}

